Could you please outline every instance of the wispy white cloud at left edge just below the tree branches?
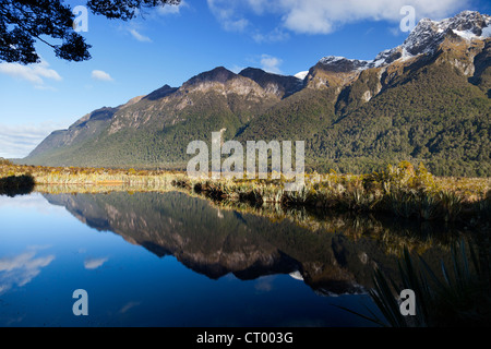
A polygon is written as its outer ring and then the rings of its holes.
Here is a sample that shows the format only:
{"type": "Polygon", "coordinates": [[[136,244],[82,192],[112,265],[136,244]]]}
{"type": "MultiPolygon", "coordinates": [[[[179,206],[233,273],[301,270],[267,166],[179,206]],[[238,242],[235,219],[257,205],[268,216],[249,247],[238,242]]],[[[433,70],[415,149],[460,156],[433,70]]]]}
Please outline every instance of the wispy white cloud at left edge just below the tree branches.
{"type": "Polygon", "coordinates": [[[14,79],[25,80],[32,83],[36,88],[46,89],[45,79],[61,81],[57,71],[49,69],[47,61],[23,65],[20,63],[0,63],[0,74],[10,75],[14,79]]]}

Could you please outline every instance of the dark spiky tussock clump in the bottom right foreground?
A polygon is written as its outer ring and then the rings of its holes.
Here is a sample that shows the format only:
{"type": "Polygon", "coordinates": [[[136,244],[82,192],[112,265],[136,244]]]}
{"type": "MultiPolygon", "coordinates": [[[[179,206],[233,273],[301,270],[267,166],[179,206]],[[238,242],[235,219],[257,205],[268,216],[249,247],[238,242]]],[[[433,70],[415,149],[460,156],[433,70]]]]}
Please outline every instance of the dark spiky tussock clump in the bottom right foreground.
{"type": "Polygon", "coordinates": [[[489,260],[482,260],[471,243],[460,241],[451,251],[451,266],[441,262],[440,273],[404,249],[398,260],[400,282],[376,268],[370,297],[383,314],[356,313],[382,326],[447,327],[484,326],[491,323],[491,275],[489,260]],[[415,292],[416,314],[402,315],[399,292],[415,292]]]}

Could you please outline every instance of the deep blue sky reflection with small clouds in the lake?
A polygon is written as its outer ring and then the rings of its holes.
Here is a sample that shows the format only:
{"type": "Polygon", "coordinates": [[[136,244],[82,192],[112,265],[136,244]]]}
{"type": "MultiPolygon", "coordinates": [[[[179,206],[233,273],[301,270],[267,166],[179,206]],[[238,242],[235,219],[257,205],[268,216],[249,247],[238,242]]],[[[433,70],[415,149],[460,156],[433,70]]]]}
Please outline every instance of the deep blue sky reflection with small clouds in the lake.
{"type": "Polygon", "coordinates": [[[172,256],[159,258],[118,234],[92,229],[39,194],[0,196],[0,326],[350,326],[360,321],[332,306],[361,309],[359,296],[320,297],[297,275],[213,280],[172,256]],[[72,314],[75,289],[88,293],[88,316],[72,314]]]}

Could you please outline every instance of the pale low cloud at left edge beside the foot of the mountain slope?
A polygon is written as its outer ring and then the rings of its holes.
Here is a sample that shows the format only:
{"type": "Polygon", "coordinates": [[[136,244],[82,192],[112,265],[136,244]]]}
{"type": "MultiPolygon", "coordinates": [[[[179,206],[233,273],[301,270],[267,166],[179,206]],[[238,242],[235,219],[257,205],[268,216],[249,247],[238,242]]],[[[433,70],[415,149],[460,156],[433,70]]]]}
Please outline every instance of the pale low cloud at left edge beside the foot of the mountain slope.
{"type": "Polygon", "coordinates": [[[27,156],[52,131],[62,129],[58,123],[9,125],[0,123],[0,157],[27,156]]]}

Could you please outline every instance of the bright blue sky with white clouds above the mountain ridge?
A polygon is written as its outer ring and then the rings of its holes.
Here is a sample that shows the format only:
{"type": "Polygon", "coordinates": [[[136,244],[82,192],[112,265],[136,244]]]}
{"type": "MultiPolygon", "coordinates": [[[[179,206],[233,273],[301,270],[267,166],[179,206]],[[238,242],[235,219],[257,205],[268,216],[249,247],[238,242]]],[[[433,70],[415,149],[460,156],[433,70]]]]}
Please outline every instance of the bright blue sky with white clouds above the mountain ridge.
{"type": "Polygon", "coordinates": [[[39,43],[41,63],[0,62],[0,157],[24,157],[94,109],[178,87],[218,65],[292,75],[324,56],[373,59],[407,37],[404,5],[415,8],[417,21],[462,10],[491,14],[478,0],[184,0],[130,22],[88,13],[81,34],[93,46],[89,61],[62,61],[39,43]]]}

